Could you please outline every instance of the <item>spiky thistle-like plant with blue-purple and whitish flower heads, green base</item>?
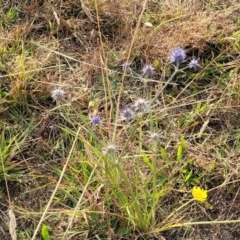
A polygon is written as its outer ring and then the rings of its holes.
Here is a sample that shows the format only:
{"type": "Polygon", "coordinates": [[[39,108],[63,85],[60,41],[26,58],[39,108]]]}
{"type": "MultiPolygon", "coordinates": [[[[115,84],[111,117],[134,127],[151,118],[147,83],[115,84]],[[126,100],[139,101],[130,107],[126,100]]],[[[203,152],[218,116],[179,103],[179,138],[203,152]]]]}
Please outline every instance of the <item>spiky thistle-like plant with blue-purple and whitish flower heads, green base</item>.
{"type": "MultiPolygon", "coordinates": [[[[150,109],[153,107],[154,101],[173,80],[174,76],[187,68],[196,71],[196,69],[200,67],[198,60],[194,57],[187,63],[186,52],[180,47],[177,47],[171,52],[170,63],[174,66],[174,72],[151,101],[139,98],[132,106],[127,106],[120,112],[118,121],[127,124],[128,128],[126,129],[130,131],[129,138],[126,139],[124,145],[120,148],[115,145],[115,143],[109,143],[102,149],[103,155],[105,156],[105,173],[108,180],[108,186],[112,188],[113,196],[111,197],[114,198],[119,209],[124,213],[124,217],[127,219],[128,226],[131,226],[129,228],[131,230],[137,229],[141,232],[145,232],[156,224],[156,210],[160,198],[164,196],[164,184],[167,180],[159,184],[157,179],[156,166],[158,159],[156,154],[155,157],[150,160],[146,154],[141,152],[141,147],[138,148],[140,151],[136,154],[139,154],[143,162],[147,164],[150,169],[150,174],[144,179],[140,170],[141,163],[140,161],[136,161],[136,167],[132,169],[130,178],[129,173],[125,170],[124,164],[122,164],[121,161],[123,156],[126,155],[125,150],[128,144],[133,140],[133,137],[136,136],[138,129],[141,129],[141,127],[139,127],[142,121],[141,116],[143,114],[151,114],[150,109]],[[180,68],[181,65],[183,65],[182,68],[180,68]],[[131,126],[133,122],[135,125],[131,126]]],[[[127,62],[122,64],[122,70],[135,73],[131,69],[130,63],[127,62]]],[[[137,75],[137,73],[135,75],[137,75]]],[[[148,78],[154,75],[155,69],[151,64],[145,65],[141,70],[142,77],[148,78]]],[[[139,135],[141,134],[142,132],[140,131],[139,135]]],[[[149,143],[151,144],[153,153],[159,151],[158,143],[161,141],[161,138],[162,136],[158,131],[153,131],[149,134],[149,143]]],[[[142,136],[139,136],[139,145],[142,144],[141,142],[142,136]]],[[[129,161],[131,161],[131,158],[129,158],[129,161]]],[[[181,209],[181,207],[179,209],[181,209]]]]}

